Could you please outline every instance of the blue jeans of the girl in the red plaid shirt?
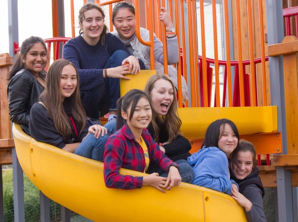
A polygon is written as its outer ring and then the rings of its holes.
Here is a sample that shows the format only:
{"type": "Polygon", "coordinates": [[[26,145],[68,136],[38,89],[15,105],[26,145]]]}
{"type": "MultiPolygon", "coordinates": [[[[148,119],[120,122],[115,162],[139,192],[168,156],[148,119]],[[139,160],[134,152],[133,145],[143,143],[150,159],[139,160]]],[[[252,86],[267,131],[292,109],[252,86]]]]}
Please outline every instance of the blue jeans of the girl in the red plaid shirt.
{"type": "MultiPolygon", "coordinates": [[[[187,160],[177,160],[175,163],[177,163],[179,166],[179,174],[181,176],[182,182],[191,184],[194,179],[194,171],[187,160]]],[[[164,172],[162,170],[157,173],[160,177],[167,177],[169,174],[168,172],[164,172]]]]}

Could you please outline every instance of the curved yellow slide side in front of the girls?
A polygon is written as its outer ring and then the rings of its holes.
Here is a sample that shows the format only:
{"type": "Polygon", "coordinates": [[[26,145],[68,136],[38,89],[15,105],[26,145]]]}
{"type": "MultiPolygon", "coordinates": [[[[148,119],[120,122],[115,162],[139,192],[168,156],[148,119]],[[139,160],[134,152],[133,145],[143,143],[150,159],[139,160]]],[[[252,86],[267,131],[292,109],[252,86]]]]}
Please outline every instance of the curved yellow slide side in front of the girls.
{"type": "MultiPolygon", "coordinates": [[[[166,194],[145,186],[105,187],[103,163],[37,142],[13,124],[17,157],[28,178],[50,199],[92,221],[245,222],[242,207],[230,196],[181,183],[166,194]]],[[[146,174],[121,169],[122,174],[146,174]]]]}

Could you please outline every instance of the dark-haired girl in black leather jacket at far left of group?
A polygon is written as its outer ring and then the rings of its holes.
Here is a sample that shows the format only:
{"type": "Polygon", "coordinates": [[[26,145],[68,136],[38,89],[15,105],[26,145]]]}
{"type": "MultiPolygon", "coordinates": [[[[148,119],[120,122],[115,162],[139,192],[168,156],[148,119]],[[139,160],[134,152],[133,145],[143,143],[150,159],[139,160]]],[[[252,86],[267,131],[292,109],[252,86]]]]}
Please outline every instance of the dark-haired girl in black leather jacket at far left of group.
{"type": "Polygon", "coordinates": [[[42,38],[31,36],[23,41],[9,72],[7,87],[10,120],[29,134],[30,109],[45,89],[48,63],[47,47],[42,38]]]}

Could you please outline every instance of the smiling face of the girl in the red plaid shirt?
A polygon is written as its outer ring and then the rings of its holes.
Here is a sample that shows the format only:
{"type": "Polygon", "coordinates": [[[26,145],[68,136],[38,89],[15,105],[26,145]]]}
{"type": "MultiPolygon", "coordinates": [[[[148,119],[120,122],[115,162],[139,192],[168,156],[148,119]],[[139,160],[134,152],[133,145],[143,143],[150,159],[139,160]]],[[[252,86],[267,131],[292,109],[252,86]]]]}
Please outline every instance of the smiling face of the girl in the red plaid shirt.
{"type": "Polygon", "coordinates": [[[136,130],[143,130],[148,127],[151,118],[152,118],[152,111],[149,104],[149,101],[142,97],[134,110],[133,116],[130,119],[129,113],[131,113],[132,105],[129,106],[127,112],[121,111],[122,117],[126,119],[126,122],[132,132],[136,130]]]}

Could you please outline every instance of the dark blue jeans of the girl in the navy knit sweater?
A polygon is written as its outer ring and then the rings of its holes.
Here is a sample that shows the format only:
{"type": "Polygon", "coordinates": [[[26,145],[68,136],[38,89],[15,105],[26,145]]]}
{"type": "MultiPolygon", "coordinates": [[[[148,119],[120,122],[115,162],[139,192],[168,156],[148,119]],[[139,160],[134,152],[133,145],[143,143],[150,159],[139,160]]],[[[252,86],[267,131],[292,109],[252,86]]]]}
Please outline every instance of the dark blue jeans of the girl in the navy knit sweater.
{"type": "MultiPolygon", "coordinates": [[[[122,65],[122,61],[129,57],[129,53],[123,50],[114,52],[104,69],[122,65]]],[[[120,98],[120,81],[115,78],[105,78],[104,85],[95,87],[89,91],[81,91],[81,101],[84,110],[90,118],[98,119],[100,116],[117,108],[117,100],[120,98]]]]}

